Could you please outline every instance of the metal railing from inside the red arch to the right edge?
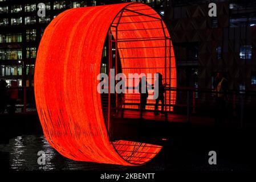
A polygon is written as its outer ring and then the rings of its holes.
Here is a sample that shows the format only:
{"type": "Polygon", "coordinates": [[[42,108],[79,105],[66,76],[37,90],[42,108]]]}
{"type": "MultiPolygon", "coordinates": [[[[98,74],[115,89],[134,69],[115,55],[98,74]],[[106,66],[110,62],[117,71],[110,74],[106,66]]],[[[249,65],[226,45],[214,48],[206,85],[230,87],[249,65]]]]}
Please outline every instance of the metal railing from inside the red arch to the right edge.
{"type": "MultiPolygon", "coordinates": [[[[193,120],[191,117],[194,116],[215,121],[218,119],[218,115],[227,125],[256,126],[255,119],[253,119],[256,109],[256,92],[228,90],[225,93],[224,110],[221,111],[221,115],[217,113],[217,94],[222,93],[211,89],[166,87],[166,104],[164,105],[164,111],[161,111],[161,113],[165,114],[165,121],[169,121],[168,115],[172,114],[185,116],[186,122],[191,122],[193,120]]],[[[123,114],[125,110],[139,111],[140,118],[144,118],[143,112],[155,112],[155,100],[152,99],[150,93],[146,109],[140,109],[139,93],[124,94],[122,103],[117,108],[121,110],[121,117],[125,117],[123,114]]],[[[159,103],[158,110],[160,110],[160,107],[161,104],[159,103]]]]}

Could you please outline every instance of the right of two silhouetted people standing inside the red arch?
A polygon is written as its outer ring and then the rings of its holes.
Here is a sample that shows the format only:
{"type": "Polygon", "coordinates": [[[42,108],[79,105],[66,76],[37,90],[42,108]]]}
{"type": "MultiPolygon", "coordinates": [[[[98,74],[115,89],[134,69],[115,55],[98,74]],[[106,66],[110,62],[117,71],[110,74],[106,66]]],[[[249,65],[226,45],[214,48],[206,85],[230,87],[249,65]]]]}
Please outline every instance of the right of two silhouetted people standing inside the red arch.
{"type": "MultiPolygon", "coordinates": [[[[161,101],[161,111],[164,111],[164,91],[165,91],[165,84],[162,84],[162,75],[161,73],[158,73],[159,76],[156,78],[156,81],[158,82],[159,85],[159,89],[158,89],[158,97],[156,98],[156,104],[155,104],[155,112],[154,114],[159,114],[158,111],[158,105],[159,105],[159,101],[161,101]]],[[[155,81],[155,85],[157,85],[155,81]]],[[[156,88],[156,87],[155,87],[156,88]]],[[[154,89],[155,89],[154,88],[154,89]]],[[[154,92],[157,92],[157,90],[155,89],[154,92]]]]}

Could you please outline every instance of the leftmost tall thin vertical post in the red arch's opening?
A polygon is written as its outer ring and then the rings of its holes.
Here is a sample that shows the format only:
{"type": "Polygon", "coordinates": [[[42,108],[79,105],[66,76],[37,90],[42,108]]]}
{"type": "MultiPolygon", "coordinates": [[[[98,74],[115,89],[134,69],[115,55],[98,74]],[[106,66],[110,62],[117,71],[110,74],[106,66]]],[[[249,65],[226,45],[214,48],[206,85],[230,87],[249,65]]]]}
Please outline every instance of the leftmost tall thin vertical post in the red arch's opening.
{"type": "Polygon", "coordinates": [[[111,114],[111,108],[110,108],[110,103],[111,103],[111,97],[110,97],[110,69],[112,68],[112,42],[111,42],[111,28],[108,30],[108,123],[107,123],[107,129],[109,132],[109,135],[111,134],[110,132],[110,114],[111,114]]]}

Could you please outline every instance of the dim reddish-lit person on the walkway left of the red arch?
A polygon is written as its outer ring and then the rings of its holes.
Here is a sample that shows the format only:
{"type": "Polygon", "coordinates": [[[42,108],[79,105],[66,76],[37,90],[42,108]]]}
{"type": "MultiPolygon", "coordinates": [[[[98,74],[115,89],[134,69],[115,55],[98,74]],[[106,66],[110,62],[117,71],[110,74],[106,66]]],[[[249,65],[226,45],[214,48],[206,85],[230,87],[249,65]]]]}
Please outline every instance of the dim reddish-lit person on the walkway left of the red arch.
{"type": "Polygon", "coordinates": [[[15,113],[15,104],[18,99],[18,84],[17,81],[11,81],[11,87],[8,90],[8,95],[9,95],[9,114],[14,114],[15,113]]]}

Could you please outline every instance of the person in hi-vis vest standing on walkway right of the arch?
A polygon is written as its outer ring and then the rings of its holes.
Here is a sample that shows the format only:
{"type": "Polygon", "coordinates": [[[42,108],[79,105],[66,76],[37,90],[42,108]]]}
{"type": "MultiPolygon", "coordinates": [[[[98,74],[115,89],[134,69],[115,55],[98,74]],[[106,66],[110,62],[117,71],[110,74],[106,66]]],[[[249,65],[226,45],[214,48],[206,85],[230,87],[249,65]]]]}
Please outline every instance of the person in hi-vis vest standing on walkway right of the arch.
{"type": "Polygon", "coordinates": [[[224,122],[226,112],[226,92],[227,80],[222,73],[217,73],[213,82],[213,87],[216,91],[216,126],[220,126],[224,122]]]}

